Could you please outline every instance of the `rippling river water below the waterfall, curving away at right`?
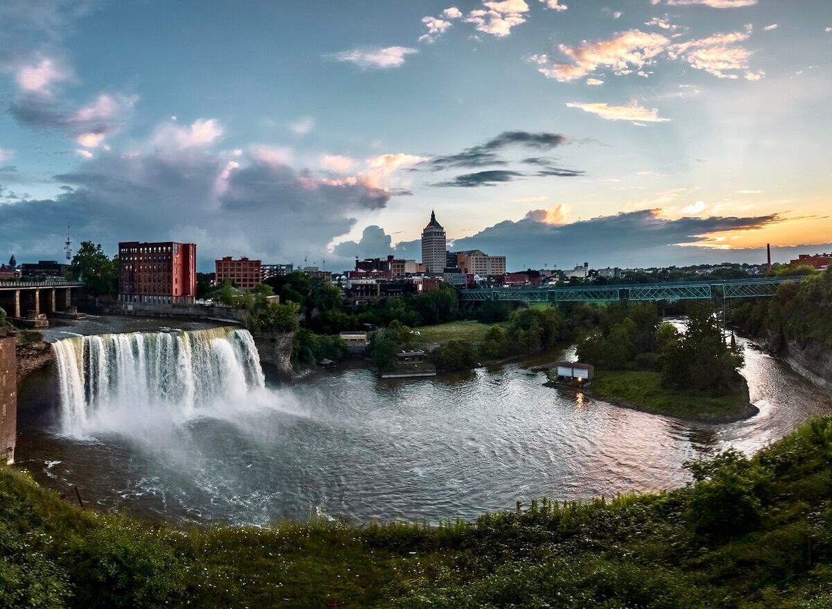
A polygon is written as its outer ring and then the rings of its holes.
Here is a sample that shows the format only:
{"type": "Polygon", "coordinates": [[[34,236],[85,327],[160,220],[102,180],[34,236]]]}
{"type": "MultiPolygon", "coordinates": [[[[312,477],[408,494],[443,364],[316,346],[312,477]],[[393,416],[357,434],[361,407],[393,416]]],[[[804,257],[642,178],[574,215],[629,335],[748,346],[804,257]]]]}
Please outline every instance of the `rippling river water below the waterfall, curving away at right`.
{"type": "Polygon", "coordinates": [[[208,372],[222,393],[210,404],[186,410],[145,395],[100,406],[95,424],[69,431],[52,370],[22,387],[17,462],[47,487],[77,485],[97,508],[175,522],[437,522],[544,495],[655,491],[686,483],[686,461],[729,446],[753,453],[832,412],[830,394],[740,343],[760,413],[724,425],[547,389],[545,375],[529,369],[540,359],[432,379],[377,379],[352,359],[292,384],[266,379],[245,394],[225,393],[224,373],[208,372]]]}

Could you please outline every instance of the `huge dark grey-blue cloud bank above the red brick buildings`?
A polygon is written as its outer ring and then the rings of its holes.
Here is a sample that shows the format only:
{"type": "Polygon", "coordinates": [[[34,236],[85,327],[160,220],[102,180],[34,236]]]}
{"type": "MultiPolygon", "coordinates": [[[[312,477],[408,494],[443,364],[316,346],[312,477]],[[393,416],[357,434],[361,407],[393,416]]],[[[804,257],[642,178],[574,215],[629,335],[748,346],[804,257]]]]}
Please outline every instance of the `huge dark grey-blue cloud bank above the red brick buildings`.
{"type": "Polygon", "coordinates": [[[306,171],[256,157],[156,147],[130,156],[102,151],[55,176],[52,199],[3,205],[0,244],[31,260],[54,258],[66,239],[182,240],[201,268],[222,255],[300,263],[352,229],[352,215],[377,210],[390,193],[361,183],[326,184],[306,171]]]}

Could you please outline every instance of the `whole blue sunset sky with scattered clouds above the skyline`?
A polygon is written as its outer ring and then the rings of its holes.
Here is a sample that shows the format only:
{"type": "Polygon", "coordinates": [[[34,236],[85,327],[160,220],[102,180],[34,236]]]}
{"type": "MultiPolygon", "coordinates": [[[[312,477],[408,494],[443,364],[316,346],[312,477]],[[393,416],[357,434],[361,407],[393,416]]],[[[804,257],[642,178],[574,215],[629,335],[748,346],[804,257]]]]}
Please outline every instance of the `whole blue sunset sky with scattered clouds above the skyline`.
{"type": "Polygon", "coordinates": [[[0,259],[832,250],[829,0],[2,0],[0,259]]]}

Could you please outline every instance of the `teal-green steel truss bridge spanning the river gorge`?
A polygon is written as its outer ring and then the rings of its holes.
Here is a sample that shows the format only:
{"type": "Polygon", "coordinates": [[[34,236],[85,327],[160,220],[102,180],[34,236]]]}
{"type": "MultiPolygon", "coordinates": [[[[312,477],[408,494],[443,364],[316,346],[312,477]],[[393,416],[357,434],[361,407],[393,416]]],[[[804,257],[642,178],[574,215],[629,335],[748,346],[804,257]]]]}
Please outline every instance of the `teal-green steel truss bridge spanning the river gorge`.
{"type": "Polygon", "coordinates": [[[546,285],[517,288],[461,290],[459,300],[520,300],[522,302],[617,302],[619,300],[727,300],[773,296],[780,284],[798,282],[801,276],[741,280],[681,281],[664,284],[546,285]]]}

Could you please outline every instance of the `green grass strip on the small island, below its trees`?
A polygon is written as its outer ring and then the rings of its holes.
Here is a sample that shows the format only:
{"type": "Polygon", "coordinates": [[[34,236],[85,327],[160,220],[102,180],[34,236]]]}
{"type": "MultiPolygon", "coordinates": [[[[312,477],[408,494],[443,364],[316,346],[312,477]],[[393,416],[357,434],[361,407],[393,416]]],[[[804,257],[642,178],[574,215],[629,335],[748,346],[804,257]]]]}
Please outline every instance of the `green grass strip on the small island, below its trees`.
{"type": "Polygon", "coordinates": [[[748,414],[745,386],[732,394],[711,396],[699,391],[666,389],[661,373],[643,370],[603,370],[596,374],[589,393],[613,404],[646,412],[700,420],[732,420],[748,414]]]}

